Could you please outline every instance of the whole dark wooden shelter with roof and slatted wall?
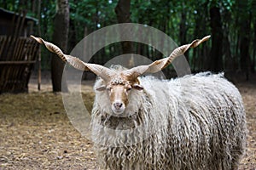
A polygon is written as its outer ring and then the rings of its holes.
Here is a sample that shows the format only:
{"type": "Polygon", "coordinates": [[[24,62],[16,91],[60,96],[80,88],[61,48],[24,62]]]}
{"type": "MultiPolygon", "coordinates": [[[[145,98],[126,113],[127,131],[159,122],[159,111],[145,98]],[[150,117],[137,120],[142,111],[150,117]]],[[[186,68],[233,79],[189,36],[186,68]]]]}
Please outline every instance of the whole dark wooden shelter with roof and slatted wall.
{"type": "Polygon", "coordinates": [[[27,35],[37,20],[0,8],[0,94],[28,91],[39,45],[27,35]]]}

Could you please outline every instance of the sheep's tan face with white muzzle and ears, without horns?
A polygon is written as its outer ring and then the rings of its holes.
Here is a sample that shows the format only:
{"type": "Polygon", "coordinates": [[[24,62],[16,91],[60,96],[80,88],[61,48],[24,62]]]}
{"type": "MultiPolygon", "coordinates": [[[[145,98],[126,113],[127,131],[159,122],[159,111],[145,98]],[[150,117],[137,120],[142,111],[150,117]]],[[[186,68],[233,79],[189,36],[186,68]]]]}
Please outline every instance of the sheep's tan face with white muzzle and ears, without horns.
{"type": "Polygon", "coordinates": [[[96,90],[107,90],[111,103],[111,109],[114,114],[119,115],[125,111],[125,107],[129,103],[129,95],[132,88],[143,90],[143,87],[139,85],[137,78],[129,81],[129,77],[125,77],[125,75],[121,72],[107,82],[106,85],[96,88],[96,90]]]}

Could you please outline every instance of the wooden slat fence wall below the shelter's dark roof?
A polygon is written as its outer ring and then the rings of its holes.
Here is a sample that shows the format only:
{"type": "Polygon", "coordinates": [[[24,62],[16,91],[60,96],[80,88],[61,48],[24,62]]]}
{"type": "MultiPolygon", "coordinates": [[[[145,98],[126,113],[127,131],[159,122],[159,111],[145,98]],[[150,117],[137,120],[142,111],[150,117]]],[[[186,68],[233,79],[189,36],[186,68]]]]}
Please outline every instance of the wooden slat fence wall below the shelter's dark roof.
{"type": "Polygon", "coordinates": [[[29,37],[0,36],[0,94],[28,91],[38,42],[29,37]]]}

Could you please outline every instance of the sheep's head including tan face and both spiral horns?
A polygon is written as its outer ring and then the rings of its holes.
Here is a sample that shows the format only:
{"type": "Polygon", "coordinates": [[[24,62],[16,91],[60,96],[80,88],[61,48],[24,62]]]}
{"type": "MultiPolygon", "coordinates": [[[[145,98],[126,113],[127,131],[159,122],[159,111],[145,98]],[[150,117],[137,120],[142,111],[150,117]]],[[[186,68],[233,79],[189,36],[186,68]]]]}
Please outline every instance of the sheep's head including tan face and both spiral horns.
{"type": "Polygon", "coordinates": [[[189,48],[197,47],[199,44],[201,44],[201,42],[205,42],[210,38],[210,36],[203,37],[200,40],[195,40],[189,44],[180,46],[174,49],[169,57],[155,60],[150,65],[139,65],[129,70],[116,72],[102,65],[84,63],[82,60],[76,57],[63,54],[61,49],[55,46],[53,43],[46,42],[40,37],[31,37],[37,42],[44,44],[49,51],[57,54],[63,61],[73,65],[74,68],[81,71],[92,71],[98,77],[101,77],[105,82],[105,85],[97,87],[96,90],[108,92],[111,109],[115,114],[122,114],[125,111],[125,107],[129,103],[128,99],[132,88],[135,90],[143,90],[138,77],[143,75],[143,73],[155,73],[161,71],[167,65],[170,65],[172,60],[177,56],[184,54],[189,48]]]}

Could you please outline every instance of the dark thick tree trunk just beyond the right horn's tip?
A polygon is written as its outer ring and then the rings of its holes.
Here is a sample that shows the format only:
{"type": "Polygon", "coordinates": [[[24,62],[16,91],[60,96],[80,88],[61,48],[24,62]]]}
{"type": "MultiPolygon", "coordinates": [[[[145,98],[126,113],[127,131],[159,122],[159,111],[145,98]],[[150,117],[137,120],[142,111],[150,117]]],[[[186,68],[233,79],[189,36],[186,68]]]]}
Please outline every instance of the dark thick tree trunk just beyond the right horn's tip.
{"type": "Polygon", "coordinates": [[[212,49],[209,70],[217,72],[223,69],[223,30],[218,7],[212,7],[210,9],[210,17],[212,28],[212,49]]]}

